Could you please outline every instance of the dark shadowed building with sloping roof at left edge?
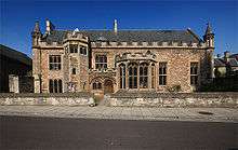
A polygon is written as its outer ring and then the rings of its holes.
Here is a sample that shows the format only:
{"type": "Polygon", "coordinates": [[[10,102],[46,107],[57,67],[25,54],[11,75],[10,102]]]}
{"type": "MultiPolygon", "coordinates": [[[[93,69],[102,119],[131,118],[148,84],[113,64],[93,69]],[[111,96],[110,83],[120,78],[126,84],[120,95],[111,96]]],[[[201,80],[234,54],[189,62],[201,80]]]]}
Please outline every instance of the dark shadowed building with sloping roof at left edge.
{"type": "Polygon", "coordinates": [[[32,60],[26,54],[0,44],[0,93],[34,91],[32,60]]]}

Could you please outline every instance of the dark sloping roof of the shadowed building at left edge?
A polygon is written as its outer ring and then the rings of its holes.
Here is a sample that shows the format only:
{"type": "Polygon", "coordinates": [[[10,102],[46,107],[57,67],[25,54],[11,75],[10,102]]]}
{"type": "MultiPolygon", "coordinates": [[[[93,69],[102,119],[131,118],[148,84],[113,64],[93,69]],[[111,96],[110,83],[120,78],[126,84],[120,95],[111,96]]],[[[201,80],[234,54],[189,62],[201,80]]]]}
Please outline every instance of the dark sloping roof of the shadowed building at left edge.
{"type": "Polygon", "coordinates": [[[8,47],[5,45],[0,44],[0,55],[3,55],[5,57],[9,57],[11,59],[18,60],[25,65],[31,66],[32,60],[30,57],[28,57],[26,54],[21,53],[18,51],[15,51],[11,47],[8,47]]]}

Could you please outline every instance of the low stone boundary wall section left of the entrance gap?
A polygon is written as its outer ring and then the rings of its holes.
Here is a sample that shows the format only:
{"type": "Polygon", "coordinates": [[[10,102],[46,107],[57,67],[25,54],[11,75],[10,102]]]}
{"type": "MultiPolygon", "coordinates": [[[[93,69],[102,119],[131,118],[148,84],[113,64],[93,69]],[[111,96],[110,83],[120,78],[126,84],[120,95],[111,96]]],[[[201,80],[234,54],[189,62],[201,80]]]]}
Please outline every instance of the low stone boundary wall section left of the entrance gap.
{"type": "Polygon", "coordinates": [[[89,93],[0,94],[0,105],[89,106],[94,99],[89,93]]]}

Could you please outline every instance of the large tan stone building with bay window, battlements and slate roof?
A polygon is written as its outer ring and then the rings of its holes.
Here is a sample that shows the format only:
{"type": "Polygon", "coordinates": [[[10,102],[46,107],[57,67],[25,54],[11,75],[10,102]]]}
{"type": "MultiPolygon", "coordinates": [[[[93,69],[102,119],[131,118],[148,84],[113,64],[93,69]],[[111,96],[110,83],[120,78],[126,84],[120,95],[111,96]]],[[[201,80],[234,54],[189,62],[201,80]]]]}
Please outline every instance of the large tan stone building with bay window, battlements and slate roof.
{"type": "Polygon", "coordinates": [[[213,77],[214,33],[191,29],[57,30],[32,36],[35,93],[193,92],[213,77]]]}

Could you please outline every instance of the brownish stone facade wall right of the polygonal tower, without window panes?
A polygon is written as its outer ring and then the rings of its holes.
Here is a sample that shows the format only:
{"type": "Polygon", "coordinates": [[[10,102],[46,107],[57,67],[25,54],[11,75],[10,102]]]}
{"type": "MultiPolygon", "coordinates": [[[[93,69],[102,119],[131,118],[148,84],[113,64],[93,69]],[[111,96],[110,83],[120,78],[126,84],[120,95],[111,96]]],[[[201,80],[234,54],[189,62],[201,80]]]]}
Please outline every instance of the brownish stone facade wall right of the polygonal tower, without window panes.
{"type": "MultiPolygon", "coordinates": [[[[96,54],[106,54],[107,55],[107,66],[108,69],[115,69],[116,56],[123,56],[124,54],[136,55],[143,54],[144,58],[147,56],[147,53],[155,54],[156,57],[154,58],[155,64],[155,82],[156,82],[156,90],[157,92],[168,92],[168,88],[173,86],[180,85],[181,92],[190,93],[193,91],[199,91],[200,84],[207,80],[209,71],[209,63],[208,54],[212,53],[206,49],[198,49],[198,47],[92,47],[92,60],[95,59],[96,54]],[[159,85],[159,63],[166,62],[167,63],[167,85],[159,85]],[[190,63],[198,63],[198,85],[193,86],[190,85],[190,63]]],[[[129,57],[129,59],[132,57],[129,57]]],[[[142,59],[138,57],[134,57],[134,59],[142,59]]],[[[145,59],[144,62],[148,62],[150,58],[145,59]]],[[[128,59],[125,59],[128,63],[128,59]]],[[[132,58],[133,60],[133,58],[132,58]]],[[[136,62],[136,60],[134,60],[136,62]]],[[[124,62],[120,62],[124,63],[124,62]]],[[[120,64],[118,63],[118,65],[120,64]]],[[[92,68],[95,68],[95,63],[92,63],[92,68]]],[[[116,68],[117,69],[117,68],[116,68]]],[[[149,70],[148,70],[149,71],[149,70]]],[[[127,70],[128,72],[128,70],[127,70]]],[[[148,72],[148,85],[150,85],[150,71],[148,72]]],[[[119,83],[119,73],[116,77],[117,83],[119,83]]],[[[128,81],[128,80],[127,80],[128,81]]],[[[128,83],[125,82],[125,85],[128,83]]],[[[128,86],[128,85],[127,85],[128,86]]],[[[115,91],[119,90],[119,84],[117,84],[115,91]]],[[[137,90],[142,90],[137,87],[137,90]]],[[[131,90],[132,91],[132,90],[131,90]]]]}

